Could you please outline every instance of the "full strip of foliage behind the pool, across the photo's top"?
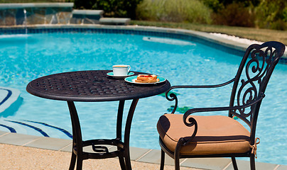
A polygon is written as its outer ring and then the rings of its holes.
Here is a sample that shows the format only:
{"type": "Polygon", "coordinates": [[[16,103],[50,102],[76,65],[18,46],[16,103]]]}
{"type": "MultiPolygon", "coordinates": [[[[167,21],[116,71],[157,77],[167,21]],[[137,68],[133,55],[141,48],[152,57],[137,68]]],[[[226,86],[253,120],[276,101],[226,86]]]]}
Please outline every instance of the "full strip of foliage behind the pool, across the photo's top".
{"type": "Polygon", "coordinates": [[[287,0],[0,0],[0,3],[74,2],[104,16],[287,30],[287,0]]]}

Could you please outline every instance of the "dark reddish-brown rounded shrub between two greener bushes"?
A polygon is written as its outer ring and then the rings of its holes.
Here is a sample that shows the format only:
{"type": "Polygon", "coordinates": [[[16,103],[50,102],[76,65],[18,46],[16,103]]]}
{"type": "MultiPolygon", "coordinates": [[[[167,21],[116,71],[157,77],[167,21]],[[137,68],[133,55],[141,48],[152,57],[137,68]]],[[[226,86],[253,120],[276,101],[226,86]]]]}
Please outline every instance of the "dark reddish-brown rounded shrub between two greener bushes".
{"type": "Polygon", "coordinates": [[[254,13],[244,4],[229,4],[218,13],[214,13],[213,21],[217,25],[254,27],[254,13]]]}

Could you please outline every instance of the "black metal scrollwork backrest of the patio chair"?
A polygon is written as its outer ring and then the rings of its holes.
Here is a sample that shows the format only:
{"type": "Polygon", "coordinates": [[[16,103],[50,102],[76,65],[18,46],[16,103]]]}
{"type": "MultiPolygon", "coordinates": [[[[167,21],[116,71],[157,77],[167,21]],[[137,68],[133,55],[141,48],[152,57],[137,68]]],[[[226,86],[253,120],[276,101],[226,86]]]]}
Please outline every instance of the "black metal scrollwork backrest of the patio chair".
{"type": "MultiPolygon", "coordinates": [[[[250,45],[242,59],[234,84],[229,106],[242,106],[259,97],[264,97],[274,67],[284,53],[285,47],[278,42],[250,45]]],[[[261,101],[249,108],[229,111],[229,117],[237,116],[251,128],[251,143],[254,143],[256,122],[261,101]],[[252,141],[253,139],[253,141],[252,141]]]]}

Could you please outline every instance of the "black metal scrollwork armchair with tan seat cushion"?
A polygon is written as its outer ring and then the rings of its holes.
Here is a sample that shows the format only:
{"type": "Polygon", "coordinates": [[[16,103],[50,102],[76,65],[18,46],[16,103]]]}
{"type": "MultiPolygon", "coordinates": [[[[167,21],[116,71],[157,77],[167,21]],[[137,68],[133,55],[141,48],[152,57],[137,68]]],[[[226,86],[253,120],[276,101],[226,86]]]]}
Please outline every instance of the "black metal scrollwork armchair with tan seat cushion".
{"type": "Polygon", "coordinates": [[[274,67],[284,51],[285,45],[281,42],[250,45],[234,79],[217,85],[172,86],[166,91],[166,98],[168,101],[175,100],[175,107],[170,114],[162,115],[157,124],[161,170],[165,153],[175,159],[176,170],[180,169],[179,159],[195,157],[231,157],[234,169],[238,169],[235,157],[250,157],[251,169],[255,169],[256,145],[260,141],[255,138],[259,108],[274,67]],[[178,98],[172,92],[169,93],[171,90],[216,88],[230,83],[233,83],[233,88],[229,107],[192,108],[184,115],[174,114],[178,98]],[[191,115],[211,111],[228,111],[228,116],[191,115]],[[247,123],[250,130],[244,128],[234,116],[247,123]]]}

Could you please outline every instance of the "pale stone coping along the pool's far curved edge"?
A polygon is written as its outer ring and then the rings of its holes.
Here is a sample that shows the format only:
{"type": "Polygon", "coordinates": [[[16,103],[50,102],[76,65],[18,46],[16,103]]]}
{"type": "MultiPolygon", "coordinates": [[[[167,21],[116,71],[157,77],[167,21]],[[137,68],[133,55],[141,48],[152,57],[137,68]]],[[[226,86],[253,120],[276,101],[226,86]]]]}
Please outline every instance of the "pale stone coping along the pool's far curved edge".
{"type": "MultiPolygon", "coordinates": [[[[146,31],[153,33],[167,33],[175,35],[188,35],[198,40],[203,40],[205,42],[210,42],[212,45],[221,45],[234,50],[234,52],[242,52],[244,54],[249,44],[237,42],[236,40],[229,40],[227,38],[222,38],[217,35],[212,35],[210,33],[201,32],[197,30],[185,30],[180,28],[161,28],[154,26],[137,26],[137,25],[128,25],[128,26],[112,26],[112,25],[101,25],[101,24],[38,24],[38,25],[28,25],[28,26],[0,26],[1,30],[9,29],[45,29],[45,28],[55,28],[55,29],[67,29],[67,28],[99,28],[99,29],[109,29],[109,30],[131,30],[131,31],[146,31]]],[[[243,55],[242,55],[243,57],[243,55]]],[[[287,47],[283,55],[283,63],[287,63],[287,47]]]]}

